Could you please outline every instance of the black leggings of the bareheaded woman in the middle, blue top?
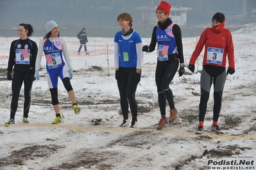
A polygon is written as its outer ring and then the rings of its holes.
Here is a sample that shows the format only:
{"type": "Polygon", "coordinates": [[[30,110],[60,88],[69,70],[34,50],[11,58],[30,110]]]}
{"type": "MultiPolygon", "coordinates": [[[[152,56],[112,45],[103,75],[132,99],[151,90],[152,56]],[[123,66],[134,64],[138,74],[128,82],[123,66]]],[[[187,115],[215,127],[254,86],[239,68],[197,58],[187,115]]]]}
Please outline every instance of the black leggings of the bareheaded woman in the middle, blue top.
{"type": "Polygon", "coordinates": [[[120,94],[120,104],[124,120],[128,120],[128,101],[132,113],[132,120],[137,121],[137,101],[135,93],[139,82],[135,82],[136,68],[119,68],[121,81],[117,81],[120,94]]]}

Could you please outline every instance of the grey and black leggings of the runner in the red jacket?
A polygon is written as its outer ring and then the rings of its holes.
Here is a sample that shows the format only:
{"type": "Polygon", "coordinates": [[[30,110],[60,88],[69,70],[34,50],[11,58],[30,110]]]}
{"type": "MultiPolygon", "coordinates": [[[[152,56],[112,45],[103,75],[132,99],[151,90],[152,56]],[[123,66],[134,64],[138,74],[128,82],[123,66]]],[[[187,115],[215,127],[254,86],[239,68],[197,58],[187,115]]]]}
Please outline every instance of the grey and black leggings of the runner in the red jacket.
{"type": "Polygon", "coordinates": [[[226,82],[226,68],[212,65],[203,66],[201,72],[201,97],[199,104],[199,121],[205,120],[205,113],[207,111],[207,102],[210,95],[210,87],[214,84],[214,108],[213,121],[218,121],[219,112],[221,111],[221,101],[223,89],[226,82]]]}

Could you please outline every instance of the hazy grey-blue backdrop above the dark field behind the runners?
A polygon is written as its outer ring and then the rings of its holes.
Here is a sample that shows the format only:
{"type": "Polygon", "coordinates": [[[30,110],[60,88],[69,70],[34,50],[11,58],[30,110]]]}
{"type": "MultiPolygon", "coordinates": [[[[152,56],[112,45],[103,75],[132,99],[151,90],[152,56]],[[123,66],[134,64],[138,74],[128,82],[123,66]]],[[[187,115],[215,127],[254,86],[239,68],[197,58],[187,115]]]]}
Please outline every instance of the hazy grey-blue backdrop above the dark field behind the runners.
{"type": "MultiPolygon", "coordinates": [[[[241,0],[166,1],[173,8],[178,8],[179,6],[191,8],[187,12],[188,26],[208,24],[216,12],[225,13],[226,24],[255,22],[255,0],[245,0],[245,6],[243,6],[244,1],[241,0]],[[246,16],[241,19],[244,8],[246,8],[246,16]]],[[[69,29],[118,27],[116,17],[123,12],[128,12],[132,15],[134,27],[151,27],[147,23],[149,20],[142,22],[145,16],[142,14],[142,10],[137,7],[148,6],[155,10],[158,4],[160,4],[160,0],[1,0],[0,30],[1,28],[10,29],[16,27],[21,22],[31,24],[35,28],[44,28],[45,23],[49,20],[55,20],[61,27],[68,27],[69,29]],[[20,17],[17,17],[17,13],[19,13],[20,17]]],[[[153,16],[155,14],[154,10],[151,11],[153,16]]],[[[173,15],[176,14],[173,13],[173,15]]]]}

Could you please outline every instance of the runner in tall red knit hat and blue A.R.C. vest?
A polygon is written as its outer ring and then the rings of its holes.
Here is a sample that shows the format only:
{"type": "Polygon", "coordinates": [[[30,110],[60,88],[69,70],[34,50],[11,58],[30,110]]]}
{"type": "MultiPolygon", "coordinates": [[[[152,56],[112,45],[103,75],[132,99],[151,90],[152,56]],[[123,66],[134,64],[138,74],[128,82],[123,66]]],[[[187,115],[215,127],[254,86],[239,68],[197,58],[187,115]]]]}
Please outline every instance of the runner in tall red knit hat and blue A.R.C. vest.
{"type": "Polygon", "coordinates": [[[173,80],[177,72],[179,61],[179,76],[185,72],[182,33],[180,27],[173,23],[169,18],[171,4],[161,1],[157,6],[156,14],[158,23],[153,28],[150,45],[144,45],[144,52],[152,52],[157,45],[157,68],[155,72],[155,82],[157,84],[158,104],[160,107],[161,118],[158,123],[157,130],[161,130],[167,124],[166,118],[166,100],[169,104],[169,123],[176,120],[177,110],[173,100],[173,91],[169,88],[169,84],[173,80]]]}

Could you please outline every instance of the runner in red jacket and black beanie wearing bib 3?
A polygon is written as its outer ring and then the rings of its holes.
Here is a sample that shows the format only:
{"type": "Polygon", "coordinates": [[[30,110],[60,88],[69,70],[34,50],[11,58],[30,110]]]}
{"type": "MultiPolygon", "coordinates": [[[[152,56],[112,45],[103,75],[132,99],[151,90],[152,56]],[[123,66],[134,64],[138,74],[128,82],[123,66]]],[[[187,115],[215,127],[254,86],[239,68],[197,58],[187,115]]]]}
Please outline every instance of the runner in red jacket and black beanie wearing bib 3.
{"type": "Polygon", "coordinates": [[[207,102],[210,95],[210,87],[214,85],[214,107],[212,131],[221,132],[218,125],[219,112],[221,111],[221,100],[226,81],[226,56],[228,56],[227,73],[235,73],[234,44],[232,35],[225,27],[225,15],[216,13],[212,17],[212,27],[207,27],[201,33],[200,39],[192,53],[189,61],[189,70],[194,73],[196,59],[205,47],[203,55],[203,70],[201,72],[200,88],[201,97],[199,104],[199,123],[196,134],[203,132],[203,121],[207,111],[207,102]]]}

